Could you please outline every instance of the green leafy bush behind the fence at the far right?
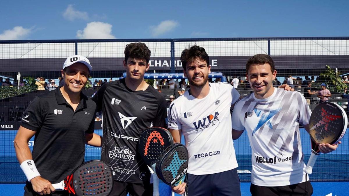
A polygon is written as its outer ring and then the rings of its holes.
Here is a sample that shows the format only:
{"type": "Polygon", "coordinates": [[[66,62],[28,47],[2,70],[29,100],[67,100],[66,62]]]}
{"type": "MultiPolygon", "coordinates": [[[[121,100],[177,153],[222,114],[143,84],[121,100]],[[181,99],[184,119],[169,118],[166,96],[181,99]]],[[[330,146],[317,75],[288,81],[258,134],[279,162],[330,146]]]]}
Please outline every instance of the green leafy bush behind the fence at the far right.
{"type": "MultiPolygon", "coordinates": [[[[331,92],[340,92],[343,93],[344,89],[348,88],[347,84],[342,82],[341,73],[337,73],[326,65],[326,70],[324,73],[320,74],[321,82],[325,82],[327,89],[331,92]]],[[[321,83],[318,83],[316,86],[320,87],[321,83]]]]}

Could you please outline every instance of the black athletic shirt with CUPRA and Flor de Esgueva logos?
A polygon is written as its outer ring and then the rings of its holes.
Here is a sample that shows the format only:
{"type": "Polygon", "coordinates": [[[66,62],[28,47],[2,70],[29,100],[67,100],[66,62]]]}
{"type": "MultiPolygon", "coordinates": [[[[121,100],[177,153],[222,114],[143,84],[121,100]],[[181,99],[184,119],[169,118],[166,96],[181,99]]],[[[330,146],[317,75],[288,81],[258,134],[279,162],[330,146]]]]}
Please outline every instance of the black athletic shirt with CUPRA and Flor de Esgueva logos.
{"type": "Polygon", "coordinates": [[[151,124],[165,127],[164,96],[150,85],[144,91],[132,91],[121,79],[104,84],[91,99],[96,102],[97,111],[102,110],[101,160],[113,169],[114,180],[149,183],[149,169],[136,145],[142,131],[151,124]]]}

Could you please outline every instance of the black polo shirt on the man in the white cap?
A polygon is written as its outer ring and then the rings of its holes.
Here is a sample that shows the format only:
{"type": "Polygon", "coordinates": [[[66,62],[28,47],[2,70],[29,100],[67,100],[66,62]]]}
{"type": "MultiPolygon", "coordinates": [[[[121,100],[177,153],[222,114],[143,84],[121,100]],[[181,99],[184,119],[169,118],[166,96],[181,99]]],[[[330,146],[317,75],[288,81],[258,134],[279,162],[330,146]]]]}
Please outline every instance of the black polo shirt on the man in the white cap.
{"type": "Polygon", "coordinates": [[[36,131],[33,160],[51,183],[62,181],[84,162],[85,133],[93,133],[96,104],[81,93],[75,112],[60,88],[36,97],[22,116],[22,127],[36,131]]]}

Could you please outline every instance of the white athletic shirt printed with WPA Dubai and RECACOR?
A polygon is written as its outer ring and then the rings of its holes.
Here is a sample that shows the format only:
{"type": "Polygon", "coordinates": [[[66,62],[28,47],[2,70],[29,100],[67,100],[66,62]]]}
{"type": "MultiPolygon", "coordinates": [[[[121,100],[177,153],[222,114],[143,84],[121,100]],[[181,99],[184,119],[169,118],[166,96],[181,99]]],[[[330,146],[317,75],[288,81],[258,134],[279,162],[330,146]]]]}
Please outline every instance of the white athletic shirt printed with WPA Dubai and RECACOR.
{"type": "Polygon", "coordinates": [[[169,107],[168,127],[181,129],[189,153],[188,173],[214,174],[238,167],[231,136],[230,106],[240,95],[229,83],[209,83],[197,99],[186,91],[169,107]]]}

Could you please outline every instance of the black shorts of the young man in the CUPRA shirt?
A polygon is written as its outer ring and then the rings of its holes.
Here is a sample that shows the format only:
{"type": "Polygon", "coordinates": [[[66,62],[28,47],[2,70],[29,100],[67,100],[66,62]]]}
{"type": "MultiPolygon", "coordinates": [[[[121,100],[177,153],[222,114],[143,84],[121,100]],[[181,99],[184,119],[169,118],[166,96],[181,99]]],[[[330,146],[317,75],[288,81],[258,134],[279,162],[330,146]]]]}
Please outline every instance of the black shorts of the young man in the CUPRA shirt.
{"type": "Polygon", "coordinates": [[[113,181],[113,190],[109,196],[153,196],[153,184],[113,181]]]}

